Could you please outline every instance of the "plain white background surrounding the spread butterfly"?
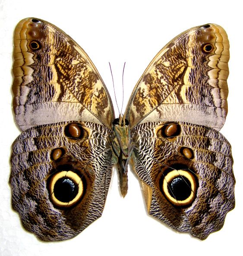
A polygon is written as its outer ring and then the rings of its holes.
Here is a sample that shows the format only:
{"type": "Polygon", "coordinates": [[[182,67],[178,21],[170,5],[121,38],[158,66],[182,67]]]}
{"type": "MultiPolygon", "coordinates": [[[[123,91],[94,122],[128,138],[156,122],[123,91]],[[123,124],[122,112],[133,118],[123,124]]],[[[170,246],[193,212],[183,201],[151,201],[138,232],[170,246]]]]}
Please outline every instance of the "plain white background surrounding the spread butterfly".
{"type": "MultiPolygon", "coordinates": [[[[242,255],[242,7],[240,1],[54,1],[0,0],[0,255],[242,255]],[[139,182],[129,172],[126,198],[118,191],[114,172],[103,215],[77,237],[44,243],[25,231],[10,205],[10,146],[20,131],[12,113],[13,31],[19,20],[47,20],[69,34],[95,63],[114,101],[108,61],[112,65],[118,105],[124,104],[155,54],[174,36],[208,22],[224,27],[230,40],[229,112],[221,132],[234,157],[236,208],[227,214],[222,230],[200,241],[179,234],[148,216],[139,182]]],[[[116,112],[117,108],[114,104],[116,112]]],[[[227,184],[226,184],[227,186],[227,184]]]]}

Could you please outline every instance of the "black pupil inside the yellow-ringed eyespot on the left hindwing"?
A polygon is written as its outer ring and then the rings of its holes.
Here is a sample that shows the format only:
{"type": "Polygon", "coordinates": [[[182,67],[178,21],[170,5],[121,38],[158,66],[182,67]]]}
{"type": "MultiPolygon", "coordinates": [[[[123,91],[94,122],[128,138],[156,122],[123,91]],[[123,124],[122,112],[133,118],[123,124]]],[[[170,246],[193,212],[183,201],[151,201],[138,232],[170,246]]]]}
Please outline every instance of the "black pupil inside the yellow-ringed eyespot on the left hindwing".
{"type": "Polygon", "coordinates": [[[72,201],[78,194],[78,186],[71,179],[58,179],[54,185],[55,197],[64,203],[72,201]]]}

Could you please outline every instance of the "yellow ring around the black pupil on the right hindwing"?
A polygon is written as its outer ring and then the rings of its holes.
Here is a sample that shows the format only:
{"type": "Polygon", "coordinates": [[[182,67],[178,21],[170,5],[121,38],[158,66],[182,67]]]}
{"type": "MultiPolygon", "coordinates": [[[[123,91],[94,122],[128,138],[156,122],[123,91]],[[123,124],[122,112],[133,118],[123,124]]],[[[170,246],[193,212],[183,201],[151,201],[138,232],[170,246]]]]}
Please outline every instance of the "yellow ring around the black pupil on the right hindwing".
{"type": "Polygon", "coordinates": [[[171,172],[169,172],[165,177],[164,177],[164,181],[163,181],[163,185],[162,185],[164,194],[166,196],[166,198],[173,204],[176,206],[185,206],[185,205],[189,205],[190,203],[193,202],[193,199],[196,196],[196,179],[193,176],[192,173],[185,171],[185,170],[173,170],[171,172]],[[170,192],[168,190],[168,183],[170,181],[172,181],[173,179],[177,178],[177,177],[181,177],[184,176],[186,177],[189,182],[191,183],[191,194],[189,195],[188,198],[186,198],[185,200],[177,200],[174,197],[172,197],[170,195],[170,192]]]}

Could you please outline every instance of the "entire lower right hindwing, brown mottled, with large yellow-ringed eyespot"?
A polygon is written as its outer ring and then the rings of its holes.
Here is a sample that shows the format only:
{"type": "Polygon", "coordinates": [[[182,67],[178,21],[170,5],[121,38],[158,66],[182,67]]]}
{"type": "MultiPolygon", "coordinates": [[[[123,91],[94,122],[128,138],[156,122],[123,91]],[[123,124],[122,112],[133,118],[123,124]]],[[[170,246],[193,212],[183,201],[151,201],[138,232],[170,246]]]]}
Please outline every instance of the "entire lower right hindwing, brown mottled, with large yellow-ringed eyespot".
{"type": "Polygon", "coordinates": [[[213,128],[147,122],[132,130],[133,160],[148,213],[205,239],[235,205],[229,142],[213,128]]]}

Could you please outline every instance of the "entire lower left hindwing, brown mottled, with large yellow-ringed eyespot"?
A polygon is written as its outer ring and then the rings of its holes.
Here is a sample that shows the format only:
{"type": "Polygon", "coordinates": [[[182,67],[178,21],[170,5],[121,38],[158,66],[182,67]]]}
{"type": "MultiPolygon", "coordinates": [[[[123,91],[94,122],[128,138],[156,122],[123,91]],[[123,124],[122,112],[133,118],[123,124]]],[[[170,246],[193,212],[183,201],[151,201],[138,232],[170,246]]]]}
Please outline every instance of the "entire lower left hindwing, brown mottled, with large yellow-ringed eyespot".
{"type": "Polygon", "coordinates": [[[10,184],[28,231],[44,241],[65,240],[101,216],[114,165],[109,132],[92,122],[60,122],[20,134],[10,184]]]}

